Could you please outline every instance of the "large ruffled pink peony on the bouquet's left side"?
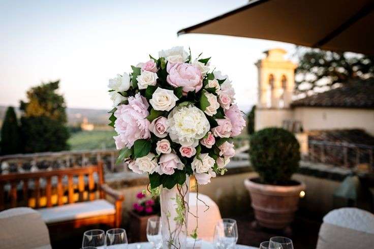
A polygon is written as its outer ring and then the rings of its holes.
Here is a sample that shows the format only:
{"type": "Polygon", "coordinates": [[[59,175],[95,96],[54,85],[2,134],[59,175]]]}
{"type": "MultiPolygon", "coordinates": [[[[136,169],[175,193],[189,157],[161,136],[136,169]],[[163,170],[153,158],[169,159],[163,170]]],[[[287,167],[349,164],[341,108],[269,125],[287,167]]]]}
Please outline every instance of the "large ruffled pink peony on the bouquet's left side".
{"type": "Polygon", "coordinates": [[[114,130],[118,136],[114,137],[117,149],[124,146],[131,148],[135,140],[150,137],[149,121],[145,118],[149,115],[148,103],[140,94],[129,98],[128,105],[119,105],[114,112],[117,118],[114,122],[114,130]]]}

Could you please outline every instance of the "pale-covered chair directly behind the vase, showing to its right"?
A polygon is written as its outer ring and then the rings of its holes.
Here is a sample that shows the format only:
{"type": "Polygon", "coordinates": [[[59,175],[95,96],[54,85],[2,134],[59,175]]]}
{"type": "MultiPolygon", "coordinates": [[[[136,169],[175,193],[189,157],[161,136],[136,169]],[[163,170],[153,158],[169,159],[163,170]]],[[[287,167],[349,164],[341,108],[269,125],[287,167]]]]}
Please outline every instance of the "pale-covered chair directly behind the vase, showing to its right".
{"type": "Polygon", "coordinates": [[[218,208],[217,204],[210,199],[208,196],[199,194],[199,199],[197,200],[197,194],[196,193],[190,193],[189,197],[189,206],[190,206],[190,212],[188,216],[188,231],[189,234],[192,234],[195,227],[196,227],[196,217],[198,216],[198,238],[203,239],[206,241],[212,241],[214,236],[214,228],[215,225],[219,220],[221,220],[221,213],[220,209],[218,208]],[[207,209],[207,206],[203,202],[209,206],[209,209],[207,209]],[[196,215],[196,207],[197,207],[197,214],[196,215]],[[205,211],[206,210],[206,211],[205,211]],[[195,216],[194,216],[195,215],[195,216]]]}

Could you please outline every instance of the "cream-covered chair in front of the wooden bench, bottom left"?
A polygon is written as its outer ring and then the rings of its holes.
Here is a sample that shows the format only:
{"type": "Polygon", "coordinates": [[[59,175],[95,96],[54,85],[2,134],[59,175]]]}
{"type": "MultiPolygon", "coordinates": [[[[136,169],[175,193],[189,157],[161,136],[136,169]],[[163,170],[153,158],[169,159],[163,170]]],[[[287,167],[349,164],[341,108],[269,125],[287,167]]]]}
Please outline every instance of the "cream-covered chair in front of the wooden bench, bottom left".
{"type": "Polygon", "coordinates": [[[2,249],[51,249],[48,228],[38,211],[16,207],[0,212],[2,249]]]}

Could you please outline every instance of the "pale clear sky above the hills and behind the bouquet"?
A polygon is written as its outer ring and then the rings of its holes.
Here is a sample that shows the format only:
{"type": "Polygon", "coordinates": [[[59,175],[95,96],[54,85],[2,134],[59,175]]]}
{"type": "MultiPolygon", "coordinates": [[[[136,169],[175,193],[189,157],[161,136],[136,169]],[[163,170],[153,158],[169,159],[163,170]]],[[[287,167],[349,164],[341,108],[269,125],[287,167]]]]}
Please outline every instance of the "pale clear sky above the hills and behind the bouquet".
{"type": "Polygon", "coordinates": [[[243,111],[257,102],[263,51],[292,44],[177,31],[247,4],[215,1],[0,0],[0,105],[18,106],[28,88],[60,80],[71,108],[110,109],[108,79],[173,46],[203,52],[227,74],[243,111]]]}

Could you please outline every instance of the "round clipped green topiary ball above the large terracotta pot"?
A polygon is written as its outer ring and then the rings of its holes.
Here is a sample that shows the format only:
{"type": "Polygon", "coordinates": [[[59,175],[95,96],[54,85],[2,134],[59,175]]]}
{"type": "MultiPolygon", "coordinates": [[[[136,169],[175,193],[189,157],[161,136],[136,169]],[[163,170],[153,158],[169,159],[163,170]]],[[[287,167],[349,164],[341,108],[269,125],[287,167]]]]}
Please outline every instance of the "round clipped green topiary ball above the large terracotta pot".
{"type": "Polygon", "coordinates": [[[295,136],[282,128],[266,128],[254,133],[249,153],[261,183],[288,184],[299,167],[299,148],[295,136]]]}

